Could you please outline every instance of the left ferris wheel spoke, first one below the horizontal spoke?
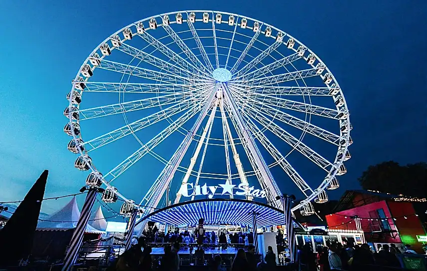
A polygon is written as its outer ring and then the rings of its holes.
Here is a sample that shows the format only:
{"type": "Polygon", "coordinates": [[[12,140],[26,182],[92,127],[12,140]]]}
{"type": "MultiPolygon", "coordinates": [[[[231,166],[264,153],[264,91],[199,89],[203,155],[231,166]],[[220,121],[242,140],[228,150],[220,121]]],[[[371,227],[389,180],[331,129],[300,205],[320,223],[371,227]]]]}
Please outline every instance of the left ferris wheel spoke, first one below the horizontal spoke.
{"type": "Polygon", "coordinates": [[[106,117],[110,115],[115,115],[119,113],[126,113],[136,110],[147,109],[151,107],[157,107],[167,104],[183,102],[186,99],[191,98],[194,95],[193,92],[188,90],[183,90],[180,92],[167,94],[163,96],[150,97],[145,99],[133,100],[128,102],[121,102],[116,104],[107,104],[103,106],[98,106],[94,108],[87,108],[79,110],[81,115],[80,121],[106,117]]]}

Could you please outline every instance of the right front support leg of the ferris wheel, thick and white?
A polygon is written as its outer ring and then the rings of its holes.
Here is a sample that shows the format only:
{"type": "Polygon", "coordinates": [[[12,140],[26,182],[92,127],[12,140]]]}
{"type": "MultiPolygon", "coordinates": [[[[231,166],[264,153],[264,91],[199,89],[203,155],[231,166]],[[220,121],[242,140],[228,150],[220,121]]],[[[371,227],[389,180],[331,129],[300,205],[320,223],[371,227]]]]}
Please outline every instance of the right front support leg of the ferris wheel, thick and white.
{"type": "MultiPolygon", "coordinates": [[[[271,174],[267,164],[262,158],[261,153],[259,152],[253,137],[249,134],[248,132],[249,130],[244,124],[243,118],[237,109],[237,105],[231,96],[230,89],[228,88],[226,83],[222,83],[222,87],[224,89],[223,91],[224,98],[228,101],[229,108],[231,109],[231,113],[234,115],[237,121],[238,128],[243,134],[244,141],[247,144],[250,152],[252,153],[255,163],[257,164],[258,168],[261,171],[261,176],[263,177],[265,182],[268,182],[274,188],[274,191],[271,191],[271,193],[273,194],[273,198],[275,198],[276,196],[281,196],[282,192],[280,192],[280,189],[276,181],[273,179],[273,175],[271,174]]],[[[280,205],[282,205],[282,203],[280,203],[280,205]]],[[[281,206],[278,206],[278,207],[281,208],[281,206]]]]}

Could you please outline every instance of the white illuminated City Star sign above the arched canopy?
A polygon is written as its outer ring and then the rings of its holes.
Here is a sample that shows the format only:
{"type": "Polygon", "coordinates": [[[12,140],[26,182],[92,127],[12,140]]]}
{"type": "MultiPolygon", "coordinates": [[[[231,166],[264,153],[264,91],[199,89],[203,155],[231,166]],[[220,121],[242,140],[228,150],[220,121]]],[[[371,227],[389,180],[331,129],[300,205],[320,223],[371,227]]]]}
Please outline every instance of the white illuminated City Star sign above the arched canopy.
{"type": "Polygon", "coordinates": [[[235,189],[236,185],[231,184],[219,184],[218,186],[207,186],[204,184],[203,186],[200,185],[193,185],[192,183],[185,183],[181,185],[181,188],[178,191],[178,194],[182,195],[183,197],[192,197],[192,196],[208,196],[209,199],[212,199],[215,193],[219,195],[237,195],[237,196],[248,196],[248,197],[255,197],[255,198],[265,198],[265,191],[254,189],[254,187],[249,187],[248,184],[239,184],[236,188],[236,192],[233,191],[235,189]]]}

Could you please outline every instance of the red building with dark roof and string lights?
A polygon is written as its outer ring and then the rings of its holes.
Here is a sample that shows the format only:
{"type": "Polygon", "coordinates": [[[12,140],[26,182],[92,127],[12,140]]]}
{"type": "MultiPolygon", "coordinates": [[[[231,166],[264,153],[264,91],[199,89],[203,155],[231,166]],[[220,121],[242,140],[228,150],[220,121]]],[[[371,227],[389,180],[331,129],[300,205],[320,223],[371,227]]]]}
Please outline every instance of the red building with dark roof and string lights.
{"type": "Polygon", "coordinates": [[[411,245],[423,253],[423,244],[418,242],[417,235],[426,236],[426,231],[411,200],[414,199],[350,190],[341,197],[334,213],[326,216],[326,221],[330,229],[362,230],[368,243],[411,245]]]}

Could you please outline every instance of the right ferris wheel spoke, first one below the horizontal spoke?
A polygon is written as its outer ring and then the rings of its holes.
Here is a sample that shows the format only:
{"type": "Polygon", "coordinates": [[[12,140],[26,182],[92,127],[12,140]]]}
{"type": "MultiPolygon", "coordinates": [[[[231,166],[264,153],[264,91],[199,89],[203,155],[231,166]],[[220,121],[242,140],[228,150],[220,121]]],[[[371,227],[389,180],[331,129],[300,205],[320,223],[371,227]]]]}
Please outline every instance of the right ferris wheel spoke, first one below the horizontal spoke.
{"type": "Polygon", "coordinates": [[[247,91],[243,90],[242,88],[238,88],[238,89],[240,91],[234,90],[234,95],[236,96],[235,98],[238,100],[243,100],[243,101],[245,99],[251,100],[252,102],[258,103],[260,105],[263,105],[264,103],[269,103],[276,107],[281,107],[281,108],[299,111],[303,113],[309,113],[309,114],[318,115],[318,116],[327,117],[327,118],[340,119],[339,115],[341,112],[336,109],[326,108],[326,107],[303,103],[303,102],[297,102],[297,101],[269,96],[265,94],[249,96],[247,95],[247,91]],[[242,95],[242,94],[245,94],[245,95],[242,95]]]}

